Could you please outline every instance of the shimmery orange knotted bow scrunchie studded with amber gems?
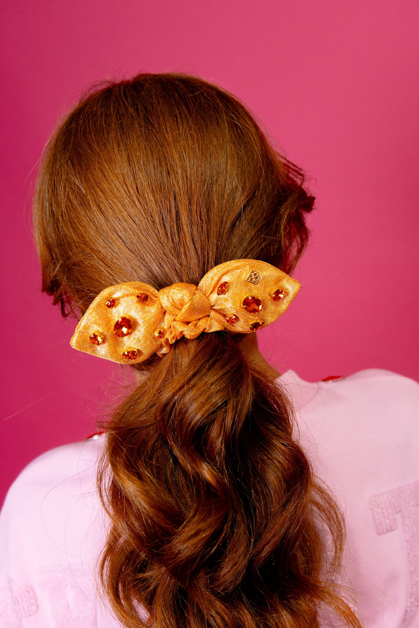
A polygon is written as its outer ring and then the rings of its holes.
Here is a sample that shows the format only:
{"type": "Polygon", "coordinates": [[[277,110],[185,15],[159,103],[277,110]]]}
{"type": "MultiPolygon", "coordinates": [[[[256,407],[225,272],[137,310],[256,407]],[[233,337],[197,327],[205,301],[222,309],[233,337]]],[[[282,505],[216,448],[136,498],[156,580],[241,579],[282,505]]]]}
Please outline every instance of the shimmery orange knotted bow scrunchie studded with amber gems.
{"type": "Polygon", "coordinates": [[[215,266],[198,286],[174,283],[156,290],[129,281],[105,288],[75,328],[73,349],[119,364],[163,355],[185,336],[226,329],[255,332],[280,317],[300,283],[256,259],[215,266]]]}

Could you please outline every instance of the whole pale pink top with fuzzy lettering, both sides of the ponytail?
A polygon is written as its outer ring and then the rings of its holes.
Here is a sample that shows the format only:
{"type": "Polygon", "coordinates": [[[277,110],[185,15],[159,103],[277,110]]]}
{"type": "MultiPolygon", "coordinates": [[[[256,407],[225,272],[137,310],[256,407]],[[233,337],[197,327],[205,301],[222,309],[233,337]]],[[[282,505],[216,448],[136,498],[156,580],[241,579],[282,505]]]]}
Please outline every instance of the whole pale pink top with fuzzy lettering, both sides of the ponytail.
{"type": "MultiPolygon", "coordinates": [[[[419,626],[419,384],[369,369],[327,382],[293,371],[300,439],[346,514],[344,579],[366,628],[419,626]]],[[[94,587],[107,522],[95,495],[106,436],[36,458],[0,515],[0,627],[104,628],[94,587]]],[[[330,615],[324,628],[339,624],[330,615]]]]}

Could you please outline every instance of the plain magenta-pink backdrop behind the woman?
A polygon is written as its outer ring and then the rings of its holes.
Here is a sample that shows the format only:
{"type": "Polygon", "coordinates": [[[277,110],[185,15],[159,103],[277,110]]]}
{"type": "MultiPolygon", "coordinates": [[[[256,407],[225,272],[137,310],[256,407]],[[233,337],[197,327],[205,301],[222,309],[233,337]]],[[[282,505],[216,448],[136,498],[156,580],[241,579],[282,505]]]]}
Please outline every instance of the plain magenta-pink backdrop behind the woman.
{"type": "Polygon", "coordinates": [[[212,80],[312,176],[303,288],[261,332],[273,364],[312,381],[368,367],[419,379],[418,18],[417,0],[3,3],[0,500],[36,455],[94,431],[121,382],[70,349],[74,323],[39,291],[31,236],[46,139],[103,77],[212,80]]]}

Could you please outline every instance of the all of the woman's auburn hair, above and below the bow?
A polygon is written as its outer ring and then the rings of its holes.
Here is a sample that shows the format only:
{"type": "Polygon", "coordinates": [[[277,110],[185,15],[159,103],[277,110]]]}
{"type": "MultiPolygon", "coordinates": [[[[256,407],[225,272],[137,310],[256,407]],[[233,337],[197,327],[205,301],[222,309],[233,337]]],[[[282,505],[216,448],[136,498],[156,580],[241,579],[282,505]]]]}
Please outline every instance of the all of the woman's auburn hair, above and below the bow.
{"type": "MultiPolygon", "coordinates": [[[[107,286],[198,284],[261,259],[291,273],[313,197],[241,102],[200,78],[140,74],[85,95],[48,144],[35,199],[43,290],[83,313],[107,286]]],[[[111,526],[100,582],[129,628],[315,628],[344,519],[313,475],[281,381],[229,332],[182,339],[107,425],[111,526]]]]}

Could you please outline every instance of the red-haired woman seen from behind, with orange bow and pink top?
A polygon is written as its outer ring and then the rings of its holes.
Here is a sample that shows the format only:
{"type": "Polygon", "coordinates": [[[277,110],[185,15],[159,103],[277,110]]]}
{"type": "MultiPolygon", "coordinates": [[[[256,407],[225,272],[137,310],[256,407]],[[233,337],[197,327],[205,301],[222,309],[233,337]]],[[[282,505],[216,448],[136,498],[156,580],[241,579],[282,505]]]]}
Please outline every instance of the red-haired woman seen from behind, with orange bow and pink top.
{"type": "Polygon", "coordinates": [[[308,384],[258,351],[312,207],[199,78],[107,85],[60,125],[35,200],[43,290],[82,316],[73,347],[136,386],[9,491],[8,628],[418,625],[418,385],[308,384]]]}

